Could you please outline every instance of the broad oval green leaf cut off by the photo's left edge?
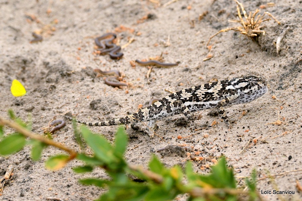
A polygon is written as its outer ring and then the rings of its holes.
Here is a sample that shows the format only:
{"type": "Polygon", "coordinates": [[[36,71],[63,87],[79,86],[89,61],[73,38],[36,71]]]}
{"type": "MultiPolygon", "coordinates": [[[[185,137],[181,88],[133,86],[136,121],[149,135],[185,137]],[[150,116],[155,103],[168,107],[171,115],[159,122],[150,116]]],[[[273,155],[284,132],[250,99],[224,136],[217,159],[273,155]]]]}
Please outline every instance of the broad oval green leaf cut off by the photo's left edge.
{"type": "Polygon", "coordinates": [[[25,137],[19,133],[8,135],[0,142],[0,155],[5,156],[20,151],[25,143],[25,137]]]}

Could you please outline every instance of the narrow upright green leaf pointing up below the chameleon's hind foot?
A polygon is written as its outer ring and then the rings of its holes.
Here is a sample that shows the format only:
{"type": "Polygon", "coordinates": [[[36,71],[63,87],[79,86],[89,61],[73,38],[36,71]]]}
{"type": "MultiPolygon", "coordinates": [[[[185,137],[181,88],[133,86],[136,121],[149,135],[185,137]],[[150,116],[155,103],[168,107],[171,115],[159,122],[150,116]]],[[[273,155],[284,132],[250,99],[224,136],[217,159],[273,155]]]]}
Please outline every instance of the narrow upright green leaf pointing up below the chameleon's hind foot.
{"type": "Polygon", "coordinates": [[[116,156],[123,157],[127,148],[128,136],[123,127],[119,127],[117,129],[117,133],[115,135],[115,150],[114,153],[116,156]]]}

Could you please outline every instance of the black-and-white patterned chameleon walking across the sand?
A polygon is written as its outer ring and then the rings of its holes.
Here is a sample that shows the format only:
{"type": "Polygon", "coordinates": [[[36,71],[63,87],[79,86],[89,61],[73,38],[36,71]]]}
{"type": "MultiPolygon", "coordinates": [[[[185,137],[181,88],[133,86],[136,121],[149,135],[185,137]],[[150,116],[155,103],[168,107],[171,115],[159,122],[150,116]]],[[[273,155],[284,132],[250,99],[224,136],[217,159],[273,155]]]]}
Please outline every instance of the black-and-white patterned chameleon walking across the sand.
{"type": "MultiPolygon", "coordinates": [[[[147,122],[179,113],[183,113],[190,120],[195,120],[200,119],[201,115],[194,112],[217,108],[221,119],[230,125],[224,107],[248,103],[261,97],[267,92],[267,85],[267,81],[262,75],[251,73],[177,91],[136,113],[118,119],[95,123],[80,120],[76,120],[76,122],[89,126],[110,126],[147,122]]],[[[70,116],[66,117],[72,119],[70,116]]]]}

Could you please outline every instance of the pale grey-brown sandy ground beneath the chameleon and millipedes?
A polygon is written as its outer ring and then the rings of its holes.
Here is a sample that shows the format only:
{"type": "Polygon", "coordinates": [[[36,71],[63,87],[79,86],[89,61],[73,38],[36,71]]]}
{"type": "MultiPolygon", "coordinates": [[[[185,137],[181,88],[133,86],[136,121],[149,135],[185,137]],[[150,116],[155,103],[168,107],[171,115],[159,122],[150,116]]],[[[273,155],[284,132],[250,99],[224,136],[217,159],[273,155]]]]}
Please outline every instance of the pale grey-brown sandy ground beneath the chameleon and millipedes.
{"type": "MultiPolygon", "coordinates": [[[[160,1],[163,4],[167,0],[160,1]]],[[[228,108],[229,116],[236,120],[232,129],[220,122],[218,116],[200,111],[203,118],[194,122],[182,115],[168,117],[157,122],[157,136],[150,138],[130,126],[126,158],[129,162],[146,166],[155,153],[167,166],[183,164],[185,153],[176,151],[161,156],[156,152],[167,145],[193,147],[188,151],[196,156],[225,155],[234,168],[236,177],[248,176],[253,168],[259,177],[302,169],[302,1],[244,1],[247,11],[274,2],[276,5],[261,9],[271,12],[281,25],[273,20],[265,22],[266,35],[258,42],[229,31],[215,37],[207,57],[205,47],[209,37],[236,19],[233,1],[176,1],[168,6],[158,6],[152,1],[0,1],[0,115],[7,118],[8,108],[27,119],[31,113],[32,131],[42,134],[42,128],[50,129],[53,119],[62,119],[71,112],[78,119],[102,121],[135,112],[140,104],[147,106],[152,98],[161,98],[171,91],[178,91],[211,80],[230,79],[256,71],[263,74],[270,84],[268,93],[249,104],[228,108]],[[191,6],[188,10],[187,7],[191,6]],[[51,12],[47,12],[47,10],[51,12]],[[198,20],[199,14],[208,14],[198,20]],[[145,20],[144,16],[149,14],[145,20]],[[29,16],[36,16],[37,20],[29,16]],[[57,19],[57,23],[52,23],[57,19]],[[140,20],[140,21],[138,21],[140,20]],[[194,23],[193,23],[194,21],[194,23]],[[49,26],[51,25],[51,26],[49,26]],[[120,45],[129,38],[135,41],[124,48],[124,57],[111,60],[108,55],[94,55],[94,38],[123,25],[131,31],[117,32],[120,45]],[[52,28],[53,27],[53,28],[52,28]],[[280,54],[276,54],[275,42],[284,29],[288,32],[281,42],[280,54]],[[43,41],[30,44],[31,33],[43,29],[43,41]],[[165,42],[170,37],[170,45],[165,42]],[[147,67],[130,65],[131,60],[148,59],[163,53],[165,62],[180,62],[171,68],[153,68],[147,83],[147,67]],[[126,75],[129,88],[113,88],[96,77],[93,69],[119,70],[126,75]],[[13,97],[10,85],[20,80],[27,89],[23,97],[13,97]],[[273,99],[275,95],[277,99],[273,99]],[[242,116],[243,111],[246,115],[242,116]],[[275,122],[280,116],[281,125],[275,122]],[[216,121],[217,125],[212,125],[216,121]],[[212,126],[210,126],[212,125],[212,126]],[[177,140],[177,136],[190,136],[177,140]],[[280,135],[280,136],[278,136],[280,135]],[[277,137],[278,136],[278,137],[277,137]],[[257,139],[246,146],[250,140],[257,139]],[[134,148],[136,147],[136,148],[134,148]],[[241,150],[246,147],[242,152],[241,150]],[[133,148],[133,149],[132,149],[133,148]]],[[[57,131],[53,138],[66,146],[79,150],[73,137],[70,121],[57,131]]],[[[142,125],[143,126],[143,125],[142,125]]],[[[92,131],[114,140],[117,126],[93,127],[92,131]]],[[[12,131],[7,129],[8,131],[12,131]]],[[[173,150],[173,149],[172,149],[173,150]]],[[[72,161],[65,168],[52,172],[44,167],[45,160],[61,153],[52,147],[43,152],[42,159],[30,159],[30,147],[6,158],[0,157],[0,176],[9,164],[14,165],[12,181],[5,186],[1,200],[44,200],[58,197],[66,200],[96,199],[101,192],[96,187],[82,186],[72,167],[80,165],[72,161]]],[[[197,172],[208,172],[212,162],[193,162],[197,172]]],[[[107,178],[102,170],[91,174],[107,178]]],[[[273,179],[258,182],[259,191],[290,190],[294,195],[263,195],[265,199],[299,200],[301,192],[296,180],[302,183],[302,173],[292,172],[273,179]]],[[[243,181],[239,181],[239,185],[243,181]]]]}

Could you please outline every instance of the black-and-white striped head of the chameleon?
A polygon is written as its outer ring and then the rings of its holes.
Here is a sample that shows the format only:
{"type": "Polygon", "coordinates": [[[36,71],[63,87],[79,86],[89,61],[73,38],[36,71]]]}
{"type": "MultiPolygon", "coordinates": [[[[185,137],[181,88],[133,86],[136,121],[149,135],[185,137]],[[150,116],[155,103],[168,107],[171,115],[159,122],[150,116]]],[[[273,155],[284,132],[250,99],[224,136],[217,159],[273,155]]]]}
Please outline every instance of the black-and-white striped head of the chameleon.
{"type": "Polygon", "coordinates": [[[258,73],[234,78],[231,84],[239,93],[238,103],[250,102],[267,92],[267,81],[258,73]]]}

